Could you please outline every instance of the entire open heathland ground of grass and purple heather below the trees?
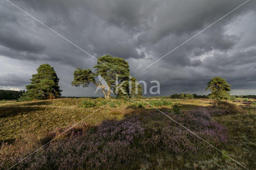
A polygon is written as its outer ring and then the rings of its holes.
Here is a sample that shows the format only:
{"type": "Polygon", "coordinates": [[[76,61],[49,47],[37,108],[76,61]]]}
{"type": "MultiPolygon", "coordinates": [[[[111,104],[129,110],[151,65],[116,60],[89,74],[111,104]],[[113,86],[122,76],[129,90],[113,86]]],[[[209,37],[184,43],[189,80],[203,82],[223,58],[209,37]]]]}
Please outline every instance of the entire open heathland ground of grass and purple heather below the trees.
{"type": "Polygon", "coordinates": [[[253,99],[6,101],[0,169],[51,140],[13,168],[256,169],[255,122],[253,99]]]}

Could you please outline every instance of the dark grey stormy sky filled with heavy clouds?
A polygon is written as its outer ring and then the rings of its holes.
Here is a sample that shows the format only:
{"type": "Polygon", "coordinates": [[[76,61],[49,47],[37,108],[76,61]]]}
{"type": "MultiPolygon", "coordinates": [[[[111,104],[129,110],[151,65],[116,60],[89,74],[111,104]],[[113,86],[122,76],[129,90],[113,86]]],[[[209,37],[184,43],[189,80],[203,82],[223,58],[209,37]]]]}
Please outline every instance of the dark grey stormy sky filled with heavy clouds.
{"type": "MultiPolygon", "coordinates": [[[[95,58],[124,58],[130,74],[147,82],[147,91],[156,85],[150,81],[159,81],[157,95],[207,95],[206,83],[216,76],[232,86],[232,95],[256,95],[254,0],[242,6],[246,0],[10,2],[95,58]]],[[[101,96],[94,85],[71,86],[74,70],[93,70],[96,59],[46,26],[0,1],[0,89],[25,89],[36,68],[48,63],[60,78],[62,96],[101,96]]]]}

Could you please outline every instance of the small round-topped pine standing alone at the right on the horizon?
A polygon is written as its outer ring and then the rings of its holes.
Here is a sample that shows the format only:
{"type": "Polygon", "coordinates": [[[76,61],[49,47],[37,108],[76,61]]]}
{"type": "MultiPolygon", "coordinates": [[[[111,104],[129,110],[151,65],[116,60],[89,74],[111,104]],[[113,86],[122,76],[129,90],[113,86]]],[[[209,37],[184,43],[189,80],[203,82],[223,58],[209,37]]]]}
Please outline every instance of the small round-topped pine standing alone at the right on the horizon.
{"type": "Polygon", "coordinates": [[[226,82],[222,77],[214,77],[208,83],[205,90],[210,89],[212,93],[210,98],[213,99],[230,99],[229,91],[231,91],[231,85],[226,82]]]}

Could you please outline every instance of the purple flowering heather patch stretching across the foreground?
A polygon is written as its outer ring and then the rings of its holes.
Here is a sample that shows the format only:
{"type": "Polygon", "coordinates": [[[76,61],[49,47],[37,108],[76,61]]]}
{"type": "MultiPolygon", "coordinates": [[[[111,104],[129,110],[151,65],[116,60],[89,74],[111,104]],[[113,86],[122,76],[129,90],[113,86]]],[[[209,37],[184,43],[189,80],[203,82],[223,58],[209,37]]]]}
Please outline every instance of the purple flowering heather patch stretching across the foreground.
{"type": "MultiPolygon", "coordinates": [[[[104,120],[97,127],[83,123],[68,130],[16,168],[139,169],[148,153],[198,154],[214,151],[209,144],[160,113],[139,111],[141,114],[136,114],[134,109],[127,110],[129,113],[126,115],[129,116],[121,121],[104,120]]],[[[180,115],[166,114],[221,148],[228,140],[228,131],[211,116],[226,113],[217,107],[197,107],[180,115]]],[[[48,132],[44,138],[30,136],[13,144],[2,144],[0,168],[9,168],[70,127],[48,132]],[[20,150],[20,146],[26,148],[20,150]]]]}

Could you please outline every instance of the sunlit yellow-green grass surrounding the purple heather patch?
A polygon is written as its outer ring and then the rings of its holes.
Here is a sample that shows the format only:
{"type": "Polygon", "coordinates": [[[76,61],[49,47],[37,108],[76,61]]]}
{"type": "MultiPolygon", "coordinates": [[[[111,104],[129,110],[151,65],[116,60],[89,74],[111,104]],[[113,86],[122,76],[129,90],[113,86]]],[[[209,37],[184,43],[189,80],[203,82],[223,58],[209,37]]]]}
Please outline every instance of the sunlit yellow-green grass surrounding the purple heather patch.
{"type": "MultiPolygon", "coordinates": [[[[152,103],[161,99],[144,99],[152,103]]],[[[155,106],[161,111],[173,114],[173,106],[178,104],[181,113],[195,109],[198,106],[210,106],[210,99],[164,99],[172,105],[155,106]]],[[[0,104],[0,142],[12,143],[17,138],[33,132],[40,135],[45,131],[66,128],[84,119],[106,103],[105,99],[52,99],[46,101],[15,102],[6,101],[0,104]],[[82,103],[89,103],[90,107],[79,107],[82,103]],[[93,105],[91,105],[93,103],[93,105]]],[[[229,101],[232,103],[232,101],[229,101]]],[[[255,101],[254,101],[255,102],[255,101]]],[[[157,102],[156,102],[157,103],[157,102]]],[[[222,148],[224,153],[242,163],[249,169],[256,169],[256,107],[234,103],[245,109],[244,113],[213,117],[229,131],[229,140],[222,148]]],[[[117,100],[111,102],[84,120],[90,125],[100,125],[102,120],[122,120],[132,115],[149,115],[157,113],[142,100],[117,100]]],[[[160,113],[157,113],[160,114],[160,113]]],[[[170,121],[163,117],[165,121],[170,121]]],[[[145,121],[145,120],[144,120],[145,121]]],[[[158,120],[154,120],[158,121],[158,120]]],[[[186,125],[184,125],[186,126],[186,125]]],[[[89,133],[95,129],[90,128],[89,133]]],[[[36,136],[35,136],[36,137],[36,136]]],[[[148,152],[141,169],[242,169],[234,161],[223,156],[222,153],[210,152],[202,154],[172,154],[170,152],[148,152]]]]}

